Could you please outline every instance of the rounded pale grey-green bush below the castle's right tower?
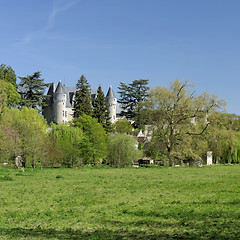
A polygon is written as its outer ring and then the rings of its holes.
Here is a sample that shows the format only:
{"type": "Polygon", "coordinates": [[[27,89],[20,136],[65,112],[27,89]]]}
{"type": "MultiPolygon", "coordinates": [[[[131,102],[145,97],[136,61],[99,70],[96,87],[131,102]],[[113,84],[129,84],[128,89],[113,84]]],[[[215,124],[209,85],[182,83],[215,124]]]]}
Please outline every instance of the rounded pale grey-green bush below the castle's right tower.
{"type": "Polygon", "coordinates": [[[111,134],[108,139],[107,163],[112,167],[127,167],[141,157],[136,149],[136,139],[127,134],[111,134]]]}

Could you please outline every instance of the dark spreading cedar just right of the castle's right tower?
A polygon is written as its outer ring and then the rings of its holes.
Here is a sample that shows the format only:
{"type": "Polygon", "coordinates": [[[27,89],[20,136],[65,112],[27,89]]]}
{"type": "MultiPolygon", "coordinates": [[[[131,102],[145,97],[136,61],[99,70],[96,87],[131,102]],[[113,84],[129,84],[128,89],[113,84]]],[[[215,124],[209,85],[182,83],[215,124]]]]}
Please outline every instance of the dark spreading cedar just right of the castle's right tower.
{"type": "Polygon", "coordinates": [[[141,110],[141,103],[145,101],[148,96],[149,87],[147,79],[134,80],[130,84],[120,82],[118,87],[120,98],[118,102],[121,104],[121,116],[135,121],[135,127],[139,127],[140,119],[139,112],[141,110]]]}

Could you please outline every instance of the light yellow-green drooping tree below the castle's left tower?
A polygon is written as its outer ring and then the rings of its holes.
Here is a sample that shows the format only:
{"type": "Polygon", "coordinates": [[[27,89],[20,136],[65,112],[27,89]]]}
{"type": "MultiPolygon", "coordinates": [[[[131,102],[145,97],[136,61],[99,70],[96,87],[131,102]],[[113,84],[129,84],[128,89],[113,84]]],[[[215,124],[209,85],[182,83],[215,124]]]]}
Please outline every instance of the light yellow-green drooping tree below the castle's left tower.
{"type": "Polygon", "coordinates": [[[80,144],[83,140],[81,129],[66,124],[52,124],[51,129],[52,140],[56,140],[63,152],[62,164],[67,167],[81,166],[80,144]]]}

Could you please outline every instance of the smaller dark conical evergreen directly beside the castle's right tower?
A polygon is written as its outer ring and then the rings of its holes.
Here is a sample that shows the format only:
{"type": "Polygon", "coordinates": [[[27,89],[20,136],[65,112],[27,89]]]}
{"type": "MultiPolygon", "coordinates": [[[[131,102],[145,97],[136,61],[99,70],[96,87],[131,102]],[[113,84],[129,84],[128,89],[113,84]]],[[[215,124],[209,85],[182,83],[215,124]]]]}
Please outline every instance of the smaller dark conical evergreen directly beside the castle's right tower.
{"type": "Polygon", "coordinates": [[[97,118],[98,122],[103,125],[107,132],[110,131],[111,122],[109,121],[109,112],[101,86],[98,87],[97,97],[93,100],[93,117],[97,118]]]}

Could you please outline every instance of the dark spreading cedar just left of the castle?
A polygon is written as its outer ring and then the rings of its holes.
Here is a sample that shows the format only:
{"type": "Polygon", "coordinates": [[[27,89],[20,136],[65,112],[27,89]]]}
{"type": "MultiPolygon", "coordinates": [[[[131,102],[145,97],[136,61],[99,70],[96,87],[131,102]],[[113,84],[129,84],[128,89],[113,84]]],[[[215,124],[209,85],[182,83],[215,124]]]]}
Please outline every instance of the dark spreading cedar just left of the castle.
{"type": "Polygon", "coordinates": [[[20,106],[36,108],[39,111],[46,105],[45,100],[48,98],[44,94],[48,84],[44,83],[41,78],[41,72],[35,72],[27,77],[19,77],[21,82],[18,84],[18,91],[21,95],[20,106]]]}

